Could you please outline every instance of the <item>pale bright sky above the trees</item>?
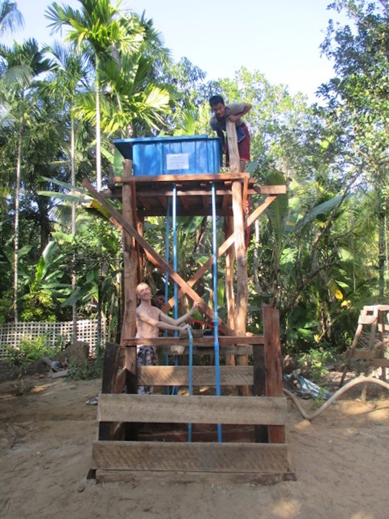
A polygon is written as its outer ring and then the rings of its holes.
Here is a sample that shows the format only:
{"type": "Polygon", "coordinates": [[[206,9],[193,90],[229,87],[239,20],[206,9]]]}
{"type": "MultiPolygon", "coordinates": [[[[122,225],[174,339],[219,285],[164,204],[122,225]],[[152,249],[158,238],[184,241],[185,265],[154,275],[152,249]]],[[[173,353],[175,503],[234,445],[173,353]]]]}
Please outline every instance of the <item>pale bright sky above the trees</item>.
{"type": "MultiPolygon", "coordinates": [[[[79,8],[77,0],[57,2],[79,8]]],[[[114,3],[114,2],[113,2],[114,3]]],[[[207,73],[206,80],[233,78],[241,66],[259,71],[272,84],[288,86],[290,94],[302,92],[317,101],[315,91],[334,73],[332,64],[321,57],[330,18],[346,23],[329,0],[124,0],[122,6],[154,20],[164,45],[178,61],[188,58],[207,73]]],[[[44,13],[47,0],[17,0],[25,28],[12,35],[21,42],[34,37],[50,43],[49,23],[44,13]]],[[[56,36],[59,37],[58,35],[56,36]]],[[[12,38],[5,43],[11,44],[12,38]]]]}

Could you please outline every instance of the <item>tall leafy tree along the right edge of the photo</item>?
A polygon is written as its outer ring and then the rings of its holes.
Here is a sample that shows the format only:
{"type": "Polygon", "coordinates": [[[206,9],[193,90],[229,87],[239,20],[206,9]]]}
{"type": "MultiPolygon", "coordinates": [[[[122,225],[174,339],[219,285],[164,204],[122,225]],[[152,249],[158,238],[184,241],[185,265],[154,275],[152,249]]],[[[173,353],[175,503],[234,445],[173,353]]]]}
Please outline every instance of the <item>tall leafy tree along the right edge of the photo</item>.
{"type": "Polygon", "coordinates": [[[389,193],[389,2],[337,0],[331,7],[345,11],[352,23],[329,23],[322,50],[334,60],[337,76],[322,85],[320,92],[328,101],[329,120],[343,130],[349,156],[363,165],[360,188],[373,194],[370,208],[378,222],[377,264],[382,299],[389,193]]]}

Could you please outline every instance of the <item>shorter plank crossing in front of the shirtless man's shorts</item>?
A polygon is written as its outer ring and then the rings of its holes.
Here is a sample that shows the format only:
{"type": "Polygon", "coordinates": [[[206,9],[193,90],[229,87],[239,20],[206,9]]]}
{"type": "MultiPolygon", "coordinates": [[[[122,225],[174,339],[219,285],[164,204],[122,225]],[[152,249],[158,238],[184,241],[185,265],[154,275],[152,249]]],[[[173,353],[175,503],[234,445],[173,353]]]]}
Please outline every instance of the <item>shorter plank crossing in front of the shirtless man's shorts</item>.
{"type": "MultiPolygon", "coordinates": [[[[252,386],[254,366],[220,366],[221,386],[252,386]]],[[[188,366],[138,366],[140,386],[188,386],[188,366]]],[[[193,386],[216,386],[215,366],[193,366],[193,386]]]]}

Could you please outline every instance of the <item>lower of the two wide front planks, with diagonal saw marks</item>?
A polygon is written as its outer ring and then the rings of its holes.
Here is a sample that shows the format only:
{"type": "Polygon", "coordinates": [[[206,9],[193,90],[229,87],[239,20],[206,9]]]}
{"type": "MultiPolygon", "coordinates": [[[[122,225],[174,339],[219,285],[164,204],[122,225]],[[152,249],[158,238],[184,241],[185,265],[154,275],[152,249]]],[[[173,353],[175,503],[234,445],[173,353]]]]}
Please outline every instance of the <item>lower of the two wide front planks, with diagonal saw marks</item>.
{"type": "Polygon", "coordinates": [[[94,442],[92,470],[262,472],[288,471],[286,444],[94,442]]]}

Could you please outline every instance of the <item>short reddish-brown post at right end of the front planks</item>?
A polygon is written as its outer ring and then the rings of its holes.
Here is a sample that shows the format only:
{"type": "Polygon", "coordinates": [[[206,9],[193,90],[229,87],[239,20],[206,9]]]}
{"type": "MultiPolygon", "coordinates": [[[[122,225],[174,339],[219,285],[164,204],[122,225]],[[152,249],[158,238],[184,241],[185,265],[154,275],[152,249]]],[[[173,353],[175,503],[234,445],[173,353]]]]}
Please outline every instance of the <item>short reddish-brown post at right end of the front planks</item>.
{"type": "MultiPolygon", "coordinates": [[[[283,397],[280,312],[263,305],[263,339],[265,342],[266,396],[283,397]]],[[[285,427],[268,428],[269,443],[285,443],[285,427]]]]}

